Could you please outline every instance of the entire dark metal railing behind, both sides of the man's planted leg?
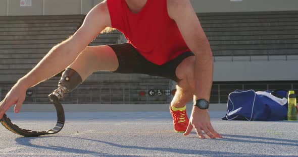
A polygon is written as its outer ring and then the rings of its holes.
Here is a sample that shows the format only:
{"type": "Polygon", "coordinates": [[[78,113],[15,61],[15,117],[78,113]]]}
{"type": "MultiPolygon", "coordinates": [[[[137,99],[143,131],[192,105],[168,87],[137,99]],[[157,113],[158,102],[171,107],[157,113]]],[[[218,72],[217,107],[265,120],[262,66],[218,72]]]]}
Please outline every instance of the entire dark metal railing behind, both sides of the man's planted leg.
{"type": "MultiPolygon", "coordinates": [[[[10,86],[0,85],[0,98],[4,99],[7,92],[10,90],[10,86]]],[[[53,87],[55,89],[56,87],[53,87]]],[[[166,96],[149,96],[148,91],[150,89],[155,90],[167,90],[170,86],[123,86],[123,87],[103,87],[98,85],[80,86],[69,94],[65,95],[62,100],[64,103],[71,104],[169,104],[173,98],[173,95],[166,96]],[[145,92],[144,96],[140,95],[140,92],[145,92]]],[[[229,93],[235,90],[294,90],[298,94],[298,84],[214,84],[211,91],[211,103],[227,103],[229,93]]],[[[42,90],[42,87],[31,88],[33,95],[26,97],[25,103],[30,104],[43,104],[49,103],[47,95],[51,93],[51,90],[42,90]]]]}

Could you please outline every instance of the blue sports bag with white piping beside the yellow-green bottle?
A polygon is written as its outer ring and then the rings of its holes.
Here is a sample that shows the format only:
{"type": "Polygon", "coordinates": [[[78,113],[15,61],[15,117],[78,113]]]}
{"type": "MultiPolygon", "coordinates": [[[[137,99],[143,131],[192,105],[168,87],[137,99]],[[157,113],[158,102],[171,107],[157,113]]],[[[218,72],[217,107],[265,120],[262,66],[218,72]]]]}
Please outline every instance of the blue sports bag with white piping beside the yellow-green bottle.
{"type": "Polygon", "coordinates": [[[287,91],[236,90],[229,94],[223,120],[275,121],[287,119],[287,91]]]}

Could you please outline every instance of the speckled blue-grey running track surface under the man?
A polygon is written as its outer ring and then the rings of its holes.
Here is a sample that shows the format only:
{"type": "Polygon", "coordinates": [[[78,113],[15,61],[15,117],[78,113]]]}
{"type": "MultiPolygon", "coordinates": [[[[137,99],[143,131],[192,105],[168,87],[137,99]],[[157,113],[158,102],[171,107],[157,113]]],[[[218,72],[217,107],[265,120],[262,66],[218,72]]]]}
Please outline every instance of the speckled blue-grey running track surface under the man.
{"type": "MultiPolygon", "coordinates": [[[[8,116],[22,128],[46,130],[55,125],[55,114],[8,116]]],[[[175,133],[169,112],[67,112],[63,130],[54,135],[20,137],[1,126],[0,156],[298,156],[297,121],[224,121],[224,112],[210,115],[223,139],[175,133]]]]}

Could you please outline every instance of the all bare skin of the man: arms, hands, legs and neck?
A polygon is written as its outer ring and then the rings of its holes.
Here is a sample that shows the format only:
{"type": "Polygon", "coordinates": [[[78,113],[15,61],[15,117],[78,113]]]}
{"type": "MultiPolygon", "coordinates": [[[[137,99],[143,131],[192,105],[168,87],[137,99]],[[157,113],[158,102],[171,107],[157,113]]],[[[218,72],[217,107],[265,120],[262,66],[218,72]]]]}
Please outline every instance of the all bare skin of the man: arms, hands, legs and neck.
{"type": "MultiPolygon", "coordinates": [[[[138,13],[146,1],[126,0],[126,4],[131,12],[138,13]]],[[[167,9],[169,17],[176,22],[187,46],[194,53],[194,56],[185,58],[176,68],[176,75],[181,81],[177,83],[177,92],[171,105],[180,108],[190,100],[209,101],[213,82],[213,56],[200,21],[189,0],[167,0],[167,9]]],[[[111,27],[111,20],[107,2],[104,1],[87,14],[84,23],[73,36],[54,46],[29,73],[20,78],[0,103],[0,118],[14,104],[14,111],[18,113],[28,88],[66,67],[75,69],[83,81],[94,71],[116,70],[119,65],[117,56],[110,47],[88,46],[106,27],[111,27]]],[[[210,138],[222,138],[212,127],[208,110],[193,107],[184,135],[188,135],[193,128],[199,138],[206,138],[202,131],[210,138]]]]}

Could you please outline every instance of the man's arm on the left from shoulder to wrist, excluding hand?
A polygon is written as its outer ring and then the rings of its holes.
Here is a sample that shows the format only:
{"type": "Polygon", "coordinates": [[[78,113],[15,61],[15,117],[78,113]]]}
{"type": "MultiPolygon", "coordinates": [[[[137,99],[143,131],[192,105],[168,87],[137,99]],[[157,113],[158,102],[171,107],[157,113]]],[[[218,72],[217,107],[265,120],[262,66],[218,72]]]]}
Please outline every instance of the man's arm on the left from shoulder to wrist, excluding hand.
{"type": "Polygon", "coordinates": [[[109,26],[109,21],[106,6],[104,4],[95,6],[76,33],[54,46],[20,81],[29,88],[64,70],[102,30],[109,26]]]}

